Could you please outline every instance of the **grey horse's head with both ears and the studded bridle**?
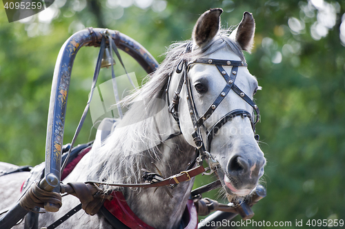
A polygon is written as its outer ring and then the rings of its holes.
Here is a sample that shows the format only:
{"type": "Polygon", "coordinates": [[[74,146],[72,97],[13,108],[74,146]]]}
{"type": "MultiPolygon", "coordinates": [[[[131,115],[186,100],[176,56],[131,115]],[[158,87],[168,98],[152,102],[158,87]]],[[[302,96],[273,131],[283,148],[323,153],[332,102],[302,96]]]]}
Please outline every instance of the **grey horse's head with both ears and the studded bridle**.
{"type": "MultiPolygon", "coordinates": [[[[186,84],[175,109],[186,141],[204,148],[209,160],[216,161],[214,169],[226,192],[245,196],[257,186],[266,164],[255,137],[259,110],[253,95],[259,86],[242,52],[250,52],[253,45],[255,21],[244,12],[239,26],[228,34],[220,29],[222,11],[208,10],[195,24],[193,41],[181,54],[184,62],[172,74],[172,79],[185,74],[186,84]]],[[[175,80],[169,88],[171,97],[176,88],[175,80]]]]}

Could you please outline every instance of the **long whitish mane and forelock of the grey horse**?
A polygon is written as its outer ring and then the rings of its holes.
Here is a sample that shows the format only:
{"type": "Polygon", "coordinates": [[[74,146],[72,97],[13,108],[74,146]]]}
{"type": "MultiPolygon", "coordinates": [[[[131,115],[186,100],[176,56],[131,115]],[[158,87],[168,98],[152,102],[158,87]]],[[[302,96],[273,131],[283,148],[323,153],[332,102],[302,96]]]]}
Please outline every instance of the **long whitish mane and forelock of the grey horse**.
{"type": "MultiPolygon", "coordinates": [[[[241,48],[229,35],[230,30],[221,30],[203,50],[193,52],[185,53],[188,44],[192,43],[191,40],[172,43],[169,46],[166,58],[155,72],[146,77],[144,86],[124,99],[124,104],[130,106],[130,109],[124,119],[118,121],[117,127],[102,143],[101,148],[92,153],[92,164],[88,169],[89,179],[110,183],[140,182],[141,169],[150,169],[152,162],[162,159],[161,136],[157,132],[157,122],[165,120],[164,117],[161,117],[161,120],[159,117],[151,117],[166,106],[165,89],[169,74],[176,70],[182,59],[203,57],[221,48],[228,48],[244,61],[241,48]]],[[[179,147],[172,147],[170,151],[173,150],[179,150],[179,147]]]]}

